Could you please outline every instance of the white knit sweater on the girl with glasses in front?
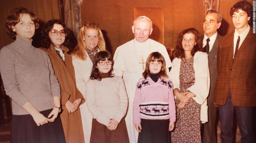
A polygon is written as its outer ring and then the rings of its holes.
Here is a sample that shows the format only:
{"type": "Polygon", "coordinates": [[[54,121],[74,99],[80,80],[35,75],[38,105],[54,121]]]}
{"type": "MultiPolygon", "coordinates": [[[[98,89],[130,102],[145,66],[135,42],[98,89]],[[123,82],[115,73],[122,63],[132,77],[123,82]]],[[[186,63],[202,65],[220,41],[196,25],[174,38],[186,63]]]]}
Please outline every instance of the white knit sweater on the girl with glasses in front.
{"type": "Polygon", "coordinates": [[[101,81],[89,79],[86,83],[88,110],[99,123],[108,125],[110,119],[118,122],[124,117],[128,97],[121,77],[103,78],[101,81]]]}

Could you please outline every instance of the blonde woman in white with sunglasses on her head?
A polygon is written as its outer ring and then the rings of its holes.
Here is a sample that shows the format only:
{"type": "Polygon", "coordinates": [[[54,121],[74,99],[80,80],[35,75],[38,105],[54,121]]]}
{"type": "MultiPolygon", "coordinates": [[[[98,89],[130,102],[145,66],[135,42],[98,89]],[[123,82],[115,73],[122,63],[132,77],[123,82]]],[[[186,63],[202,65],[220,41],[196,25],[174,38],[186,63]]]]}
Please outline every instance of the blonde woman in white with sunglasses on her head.
{"type": "MultiPolygon", "coordinates": [[[[76,86],[85,98],[85,84],[91,75],[94,56],[99,51],[105,51],[105,40],[99,29],[99,24],[86,22],[79,31],[77,41],[78,46],[75,47],[71,55],[75,69],[76,86]]],[[[86,143],[89,143],[93,117],[86,104],[85,99],[85,103],[80,105],[80,110],[84,139],[86,143]]]]}

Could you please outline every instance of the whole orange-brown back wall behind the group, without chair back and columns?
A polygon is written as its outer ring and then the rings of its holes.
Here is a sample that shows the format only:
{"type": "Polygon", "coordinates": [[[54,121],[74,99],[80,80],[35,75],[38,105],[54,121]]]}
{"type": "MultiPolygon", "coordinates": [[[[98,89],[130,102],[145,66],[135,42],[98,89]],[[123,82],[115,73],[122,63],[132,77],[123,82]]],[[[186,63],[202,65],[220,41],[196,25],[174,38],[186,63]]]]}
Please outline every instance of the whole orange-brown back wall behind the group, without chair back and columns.
{"type": "MultiPolygon", "coordinates": [[[[131,26],[134,20],[134,8],[163,8],[164,12],[164,45],[175,47],[178,34],[186,28],[194,27],[203,34],[205,14],[204,0],[83,0],[81,21],[93,21],[100,24],[107,48],[114,54],[121,44],[134,38],[131,26]]],[[[220,0],[220,13],[223,23],[220,33],[234,30],[229,10],[238,0],[220,0]]],[[[249,0],[252,3],[252,0],[249,0]]],[[[7,36],[5,22],[11,9],[25,7],[38,14],[42,23],[59,19],[58,0],[4,0],[0,9],[0,47],[12,40],[7,36]]],[[[145,13],[146,15],[146,13],[145,13]]],[[[157,15],[157,13],[156,13],[157,15]]],[[[39,32],[37,30],[37,32],[39,32]]],[[[153,33],[154,34],[154,29],[153,33]]]]}

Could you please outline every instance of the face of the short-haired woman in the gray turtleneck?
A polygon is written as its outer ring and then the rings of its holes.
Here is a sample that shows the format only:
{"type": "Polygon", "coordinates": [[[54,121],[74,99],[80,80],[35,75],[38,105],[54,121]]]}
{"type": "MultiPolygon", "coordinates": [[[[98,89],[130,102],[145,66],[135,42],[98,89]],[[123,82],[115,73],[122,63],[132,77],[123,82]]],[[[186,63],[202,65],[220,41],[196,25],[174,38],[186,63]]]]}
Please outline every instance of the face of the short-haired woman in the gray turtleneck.
{"type": "Polygon", "coordinates": [[[35,24],[29,14],[20,14],[20,21],[12,26],[12,31],[24,40],[31,40],[35,33],[35,24]]]}

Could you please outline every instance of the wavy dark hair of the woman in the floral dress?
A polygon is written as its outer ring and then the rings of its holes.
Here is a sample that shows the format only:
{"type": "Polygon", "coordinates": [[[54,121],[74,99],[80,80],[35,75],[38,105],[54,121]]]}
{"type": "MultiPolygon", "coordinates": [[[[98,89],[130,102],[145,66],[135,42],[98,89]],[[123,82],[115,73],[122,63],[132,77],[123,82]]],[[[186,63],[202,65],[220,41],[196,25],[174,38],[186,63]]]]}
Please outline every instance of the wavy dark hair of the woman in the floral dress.
{"type": "Polygon", "coordinates": [[[203,51],[203,49],[202,49],[202,45],[203,45],[202,38],[199,35],[199,32],[195,28],[188,28],[188,29],[185,29],[185,30],[181,31],[181,33],[178,36],[177,45],[175,47],[175,54],[178,58],[185,57],[184,49],[182,47],[182,40],[183,40],[183,36],[185,34],[189,34],[189,33],[193,33],[195,35],[195,40],[196,40],[196,45],[191,50],[191,55],[194,56],[197,51],[203,51]]]}

